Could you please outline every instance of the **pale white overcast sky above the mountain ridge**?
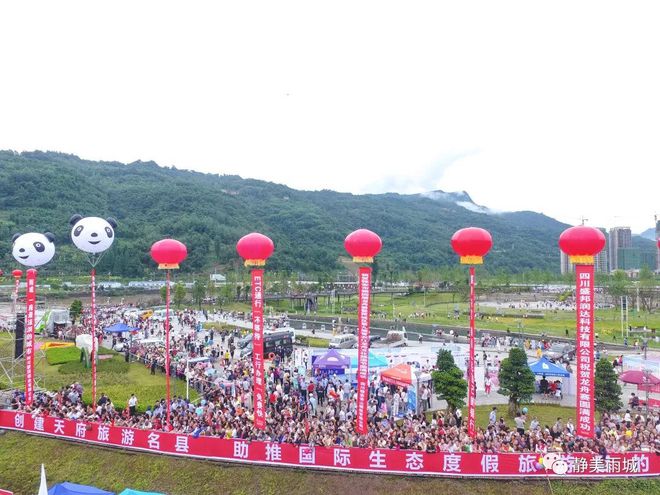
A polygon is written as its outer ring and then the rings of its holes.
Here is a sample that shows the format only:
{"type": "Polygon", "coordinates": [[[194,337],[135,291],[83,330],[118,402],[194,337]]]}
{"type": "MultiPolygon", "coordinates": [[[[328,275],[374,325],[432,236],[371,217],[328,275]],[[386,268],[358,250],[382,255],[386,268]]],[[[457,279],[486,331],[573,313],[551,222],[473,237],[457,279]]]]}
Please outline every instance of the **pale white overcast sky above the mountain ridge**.
{"type": "Polygon", "coordinates": [[[660,2],[0,5],[0,149],[660,215],[660,2]]]}

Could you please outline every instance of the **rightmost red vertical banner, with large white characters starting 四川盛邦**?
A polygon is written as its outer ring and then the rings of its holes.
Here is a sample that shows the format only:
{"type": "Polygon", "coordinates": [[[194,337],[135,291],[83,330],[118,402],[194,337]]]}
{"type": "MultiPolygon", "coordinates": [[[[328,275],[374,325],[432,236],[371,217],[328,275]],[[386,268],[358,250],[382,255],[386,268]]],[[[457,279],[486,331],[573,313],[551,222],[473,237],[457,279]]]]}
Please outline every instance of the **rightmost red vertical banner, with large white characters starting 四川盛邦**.
{"type": "Polygon", "coordinates": [[[575,265],[577,436],[594,438],[594,266],[575,265]]]}

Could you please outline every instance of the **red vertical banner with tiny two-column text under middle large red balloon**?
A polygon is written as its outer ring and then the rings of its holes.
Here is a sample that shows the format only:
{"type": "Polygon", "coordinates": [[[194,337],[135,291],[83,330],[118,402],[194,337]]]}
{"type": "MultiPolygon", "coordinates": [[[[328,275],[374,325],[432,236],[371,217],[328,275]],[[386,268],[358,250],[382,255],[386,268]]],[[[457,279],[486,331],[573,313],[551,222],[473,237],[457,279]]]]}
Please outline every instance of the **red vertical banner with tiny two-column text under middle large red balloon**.
{"type": "Polygon", "coordinates": [[[371,267],[361,266],[358,280],[358,370],[357,432],[367,434],[369,401],[369,316],[371,313],[371,267]]]}

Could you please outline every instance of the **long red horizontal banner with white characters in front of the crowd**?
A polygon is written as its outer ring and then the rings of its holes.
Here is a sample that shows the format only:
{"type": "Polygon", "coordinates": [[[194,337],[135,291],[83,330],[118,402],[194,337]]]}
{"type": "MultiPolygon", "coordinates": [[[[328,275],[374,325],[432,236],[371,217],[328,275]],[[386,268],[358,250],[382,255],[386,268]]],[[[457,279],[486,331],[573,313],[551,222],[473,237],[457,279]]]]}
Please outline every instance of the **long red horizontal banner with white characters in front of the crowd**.
{"type": "Polygon", "coordinates": [[[660,456],[649,452],[629,452],[606,457],[596,454],[561,454],[556,456],[553,464],[546,460],[545,464],[550,465],[544,468],[539,463],[538,454],[426,453],[414,450],[297,446],[219,437],[195,438],[191,435],[32,416],[8,410],[0,410],[0,428],[182,457],[371,473],[483,478],[603,478],[660,474],[660,456]]]}

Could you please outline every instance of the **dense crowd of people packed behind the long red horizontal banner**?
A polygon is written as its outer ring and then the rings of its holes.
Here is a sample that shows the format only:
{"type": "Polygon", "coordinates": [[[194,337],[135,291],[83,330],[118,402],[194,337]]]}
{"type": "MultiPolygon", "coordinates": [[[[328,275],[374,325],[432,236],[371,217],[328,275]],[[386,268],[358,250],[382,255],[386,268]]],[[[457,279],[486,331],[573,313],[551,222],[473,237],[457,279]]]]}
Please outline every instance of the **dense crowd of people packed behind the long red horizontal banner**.
{"type": "MultiPolygon", "coordinates": [[[[208,315],[207,315],[208,316],[208,315]]],[[[115,406],[112,397],[101,394],[96,407],[83,404],[80,384],[54,392],[41,392],[26,406],[16,392],[12,407],[32,414],[43,414],[78,421],[98,421],[117,426],[173,431],[193,436],[216,436],[267,440],[294,444],[414,449],[426,452],[623,452],[653,451],[660,443],[660,414],[643,414],[639,409],[626,414],[604,415],[597,426],[596,439],[580,439],[570,420],[557,418],[554,424],[541,424],[536,418],[519,414],[509,425],[496,410],[489,424],[478,428],[474,438],[460,410],[449,414],[406,413],[408,391],[405,387],[370,379],[366,435],[356,432],[356,387],[343,375],[319,372],[310,374],[302,363],[291,357],[277,356],[267,369],[266,429],[253,426],[252,362],[230,352],[235,346],[234,332],[199,332],[194,312],[181,312],[177,332],[172,338],[173,376],[186,378],[185,356],[208,357],[188,367],[187,378],[200,392],[192,402],[174,397],[169,404],[171,423],[166,424],[165,399],[147,404],[140,411],[139,397],[122,398],[125,408],[115,406]]],[[[213,315],[209,317],[212,319],[213,315]]],[[[131,322],[138,324],[140,322],[131,322]]],[[[162,336],[162,324],[142,325],[139,332],[149,337],[162,336]]],[[[152,373],[164,370],[163,346],[132,344],[132,359],[151,367],[152,373]]],[[[298,359],[299,361],[299,359],[298,359]]],[[[432,391],[422,388],[422,410],[430,406],[432,391]]]]}

